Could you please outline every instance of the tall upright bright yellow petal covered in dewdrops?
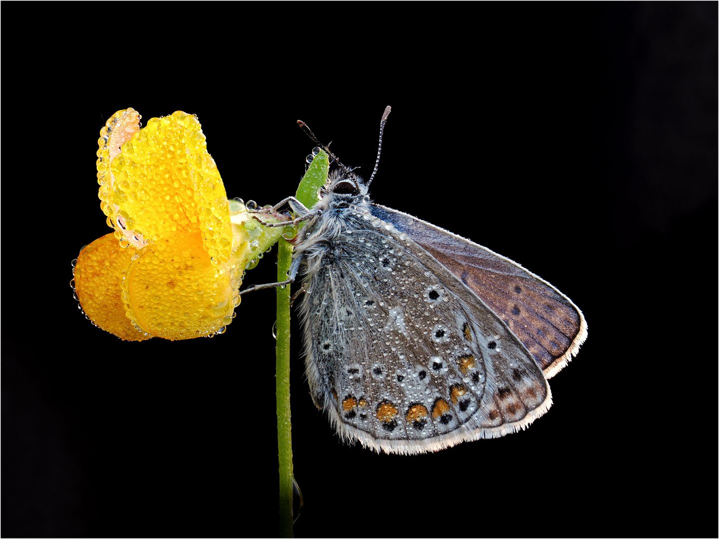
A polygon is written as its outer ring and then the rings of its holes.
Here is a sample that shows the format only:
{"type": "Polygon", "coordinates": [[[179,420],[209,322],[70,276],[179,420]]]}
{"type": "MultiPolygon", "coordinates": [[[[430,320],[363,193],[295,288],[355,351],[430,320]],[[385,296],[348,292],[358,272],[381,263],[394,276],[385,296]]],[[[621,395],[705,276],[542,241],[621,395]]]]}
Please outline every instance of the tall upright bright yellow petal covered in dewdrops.
{"type": "Polygon", "coordinates": [[[199,232],[213,264],[229,261],[227,195],[206,147],[195,116],[177,111],[150,119],[122,144],[119,155],[109,156],[108,204],[117,208],[116,220],[109,224],[120,237],[142,247],[174,234],[199,232]]]}

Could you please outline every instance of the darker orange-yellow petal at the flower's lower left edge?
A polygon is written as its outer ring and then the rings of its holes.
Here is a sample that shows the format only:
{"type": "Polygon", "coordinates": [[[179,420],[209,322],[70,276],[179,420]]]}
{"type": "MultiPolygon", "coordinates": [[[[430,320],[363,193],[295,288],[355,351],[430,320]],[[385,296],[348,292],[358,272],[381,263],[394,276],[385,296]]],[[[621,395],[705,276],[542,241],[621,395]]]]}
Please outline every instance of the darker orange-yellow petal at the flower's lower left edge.
{"type": "Polygon", "coordinates": [[[123,272],[132,262],[135,249],[122,249],[114,234],[89,244],[75,264],[75,293],[85,314],[97,326],[126,341],[145,341],[150,336],[138,331],[125,315],[122,300],[123,272]]]}

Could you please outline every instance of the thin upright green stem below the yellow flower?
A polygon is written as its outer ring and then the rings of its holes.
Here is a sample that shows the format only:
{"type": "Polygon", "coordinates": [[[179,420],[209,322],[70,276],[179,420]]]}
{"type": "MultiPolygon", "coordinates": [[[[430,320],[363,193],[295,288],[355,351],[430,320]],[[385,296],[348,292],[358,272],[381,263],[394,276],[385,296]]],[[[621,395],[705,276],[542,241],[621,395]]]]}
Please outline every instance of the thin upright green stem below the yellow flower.
{"type": "MultiPolygon", "coordinates": [[[[292,245],[278,242],[277,280],[287,279],[292,245]]],[[[292,423],[290,418],[290,287],[277,288],[277,440],[280,459],[280,537],[292,537],[292,423]]]]}

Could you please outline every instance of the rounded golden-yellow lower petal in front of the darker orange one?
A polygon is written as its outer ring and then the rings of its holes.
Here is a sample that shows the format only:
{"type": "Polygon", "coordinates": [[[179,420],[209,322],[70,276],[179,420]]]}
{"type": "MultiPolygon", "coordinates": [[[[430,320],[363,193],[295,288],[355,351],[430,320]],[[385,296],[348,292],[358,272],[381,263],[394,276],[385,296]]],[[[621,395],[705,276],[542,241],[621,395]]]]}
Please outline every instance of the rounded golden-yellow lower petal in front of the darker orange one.
{"type": "Polygon", "coordinates": [[[130,312],[144,331],[174,341],[212,335],[232,321],[245,263],[239,254],[246,249],[213,264],[202,236],[175,233],[132,262],[126,289],[130,312]]]}

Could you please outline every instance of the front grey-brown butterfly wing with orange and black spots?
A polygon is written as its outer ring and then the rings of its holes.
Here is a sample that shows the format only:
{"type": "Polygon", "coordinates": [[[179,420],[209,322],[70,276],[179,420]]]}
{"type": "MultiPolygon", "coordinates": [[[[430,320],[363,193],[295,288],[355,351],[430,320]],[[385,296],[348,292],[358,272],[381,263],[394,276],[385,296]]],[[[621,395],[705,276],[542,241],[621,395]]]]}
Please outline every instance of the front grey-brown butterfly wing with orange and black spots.
{"type": "Polygon", "coordinates": [[[438,451],[525,428],[549,409],[527,349],[407,234],[357,212],[308,244],[298,248],[308,262],[306,372],[343,438],[438,451]]]}

